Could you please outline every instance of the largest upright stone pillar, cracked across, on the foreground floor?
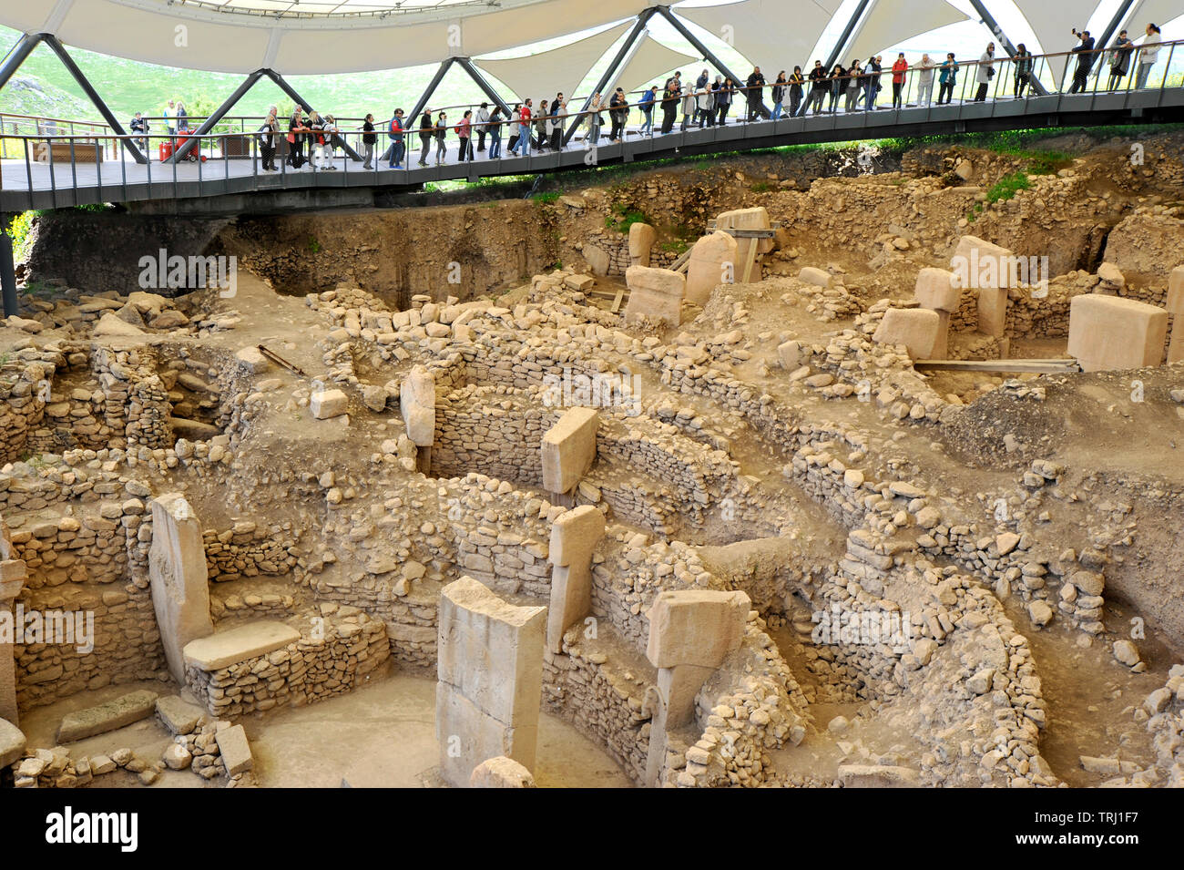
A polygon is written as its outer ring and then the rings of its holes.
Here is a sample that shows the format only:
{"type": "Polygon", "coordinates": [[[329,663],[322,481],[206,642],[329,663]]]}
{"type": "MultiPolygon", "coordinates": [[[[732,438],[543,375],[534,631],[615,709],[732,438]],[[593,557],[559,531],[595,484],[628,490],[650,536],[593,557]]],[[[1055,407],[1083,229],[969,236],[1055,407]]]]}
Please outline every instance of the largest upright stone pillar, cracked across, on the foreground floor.
{"type": "Polygon", "coordinates": [[[534,767],[546,613],[515,607],[471,576],[440,591],[436,739],[453,786],[498,755],[534,767]]]}

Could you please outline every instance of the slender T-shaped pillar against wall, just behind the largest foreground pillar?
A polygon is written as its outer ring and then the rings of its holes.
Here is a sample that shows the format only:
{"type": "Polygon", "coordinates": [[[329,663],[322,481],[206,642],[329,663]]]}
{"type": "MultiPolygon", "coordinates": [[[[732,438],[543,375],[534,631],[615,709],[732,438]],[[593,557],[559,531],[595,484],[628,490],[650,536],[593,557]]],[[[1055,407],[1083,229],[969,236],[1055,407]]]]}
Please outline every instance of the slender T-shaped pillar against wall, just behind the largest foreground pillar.
{"type": "Polygon", "coordinates": [[[551,606],[547,649],[564,651],[564,632],[592,610],[592,552],[604,537],[604,514],[583,504],[551,526],[551,606]]]}

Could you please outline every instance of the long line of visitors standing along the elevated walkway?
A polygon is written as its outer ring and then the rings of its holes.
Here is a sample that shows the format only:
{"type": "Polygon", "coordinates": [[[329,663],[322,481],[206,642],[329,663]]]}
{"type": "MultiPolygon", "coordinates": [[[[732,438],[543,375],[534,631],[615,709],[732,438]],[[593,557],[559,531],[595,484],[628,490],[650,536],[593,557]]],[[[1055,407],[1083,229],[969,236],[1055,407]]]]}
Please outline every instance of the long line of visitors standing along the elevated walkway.
{"type": "MultiPolygon", "coordinates": [[[[1088,31],[1073,33],[1079,44],[1073,49],[1073,58],[1067,65],[1073,65],[1070,94],[1088,90],[1088,79],[1095,65],[1108,62],[1107,89],[1117,90],[1122,80],[1131,75],[1133,88],[1145,88],[1151,69],[1158,60],[1160,47],[1159,27],[1148,24],[1146,38],[1141,45],[1135,45],[1127,31],[1119,32],[1108,50],[1095,47],[1094,38],[1088,31]]],[[[1012,82],[1010,92],[1015,98],[1023,98],[1036,88],[1038,71],[1036,57],[1021,43],[1009,58],[1012,82]]],[[[991,91],[992,83],[1002,62],[996,57],[996,44],[989,43],[983,54],[973,63],[976,88],[972,99],[984,102],[991,91]]],[[[953,52],[945,58],[922,53],[915,63],[909,63],[905,52],[897,53],[890,66],[884,65],[882,56],[867,60],[852,59],[849,64],[836,63],[826,67],[822,60],[815,60],[813,67],[805,72],[794,66],[792,72],[780,71],[768,82],[759,66],[744,82],[734,82],[731,77],[716,75],[714,78],[703,69],[694,82],[683,80],[682,72],[675,72],[661,86],[651,85],[641,91],[641,97],[631,101],[624,89],[614,89],[607,97],[597,92],[588,99],[586,108],[570,110],[564,94],[556,94],[553,99],[540,101],[538,108],[530,98],[509,108],[508,114],[502,105],[490,108],[481,103],[476,109],[464,109],[459,118],[450,120],[445,110],[424,109],[418,118],[408,118],[403,109],[395,109],[386,122],[387,150],[379,157],[392,169],[401,169],[410,165],[408,144],[412,136],[419,137],[419,155],[417,166],[436,166],[446,162],[449,140],[456,140],[456,155],[459,161],[476,160],[477,154],[487,154],[490,160],[501,159],[502,140],[506,138],[506,153],[514,156],[528,156],[533,152],[562,150],[571,138],[574,128],[585,127],[585,147],[599,142],[603,128],[607,124],[610,142],[620,142],[625,135],[625,125],[632,109],[641,112],[639,133],[646,135],[664,135],[691,127],[723,125],[733,107],[740,105],[736,118],[747,122],[757,120],[778,120],[781,117],[802,117],[807,112],[875,111],[881,107],[881,92],[890,84],[893,109],[907,105],[929,105],[934,102],[933,88],[938,85],[937,104],[946,105],[953,102],[954,91],[959,84],[961,66],[953,52]],[[913,98],[915,103],[906,103],[907,84],[915,77],[913,98]],[[887,82],[886,82],[887,79],[887,82]],[[770,88],[772,109],[765,104],[765,89],[770,88]],[[661,112],[656,118],[655,114],[661,112]],[[607,120],[605,118],[607,115],[607,120]],[[681,116],[681,120],[680,120],[681,116]],[[568,121],[574,118],[572,128],[568,121]],[[488,141],[488,150],[487,150],[488,141]]],[[[1099,76],[1100,76],[1099,71],[1099,76]]],[[[1008,89],[997,92],[1005,94],[1008,89]]],[[[887,102],[887,96],[884,97],[887,102]]],[[[169,101],[165,111],[165,122],[169,135],[178,130],[185,131],[185,107],[179,101],[169,101]]],[[[148,122],[139,112],[131,122],[136,134],[148,133],[148,122]]],[[[380,130],[374,116],[367,115],[361,133],[362,162],[366,169],[374,169],[375,148],[380,130]]],[[[336,169],[335,149],[342,146],[340,130],[332,115],[321,116],[316,111],[297,109],[287,122],[287,129],[271,107],[263,127],[257,133],[263,154],[264,172],[277,172],[275,155],[279,138],[288,142],[287,163],[292,169],[313,167],[316,169],[336,169]]],[[[147,141],[147,140],[144,140],[147,141]]]]}

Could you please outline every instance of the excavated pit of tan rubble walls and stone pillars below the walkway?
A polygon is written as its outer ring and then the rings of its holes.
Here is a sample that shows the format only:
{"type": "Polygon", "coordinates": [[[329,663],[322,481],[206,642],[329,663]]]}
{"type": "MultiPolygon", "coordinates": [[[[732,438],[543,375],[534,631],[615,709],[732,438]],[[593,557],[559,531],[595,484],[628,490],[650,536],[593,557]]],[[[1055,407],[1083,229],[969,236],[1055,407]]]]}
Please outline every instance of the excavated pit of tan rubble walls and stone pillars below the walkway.
{"type": "Polygon", "coordinates": [[[1184,786],[1184,130],[1009,142],[40,212],[0,790],[1184,786]]]}

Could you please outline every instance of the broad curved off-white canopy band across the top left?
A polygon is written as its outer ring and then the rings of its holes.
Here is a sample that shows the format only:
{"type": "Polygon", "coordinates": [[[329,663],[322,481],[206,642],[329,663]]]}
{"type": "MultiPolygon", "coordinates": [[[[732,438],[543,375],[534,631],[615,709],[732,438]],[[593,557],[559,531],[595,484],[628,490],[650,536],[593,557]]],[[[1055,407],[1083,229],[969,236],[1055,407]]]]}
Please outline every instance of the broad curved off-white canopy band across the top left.
{"type": "MultiPolygon", "coordinates": [[[[251,0],[259,6],[262,0],[251,0]]],[[[619,21],[649,0],[498,0],[412,14],[268,17],[166,0],[4,0],[0,24],[166,66],[285,76],[363,72],[490,54],[619,21]]],[[[385,4],[393,6],[394,0],[385,4]]],[[[278,6],[288,7],[287,1],[278,6]]],[[[301,4],[300,6],[303,6],[301,4]]],[[[298,8],[292,6],[292,8],[298,8]]]]}

